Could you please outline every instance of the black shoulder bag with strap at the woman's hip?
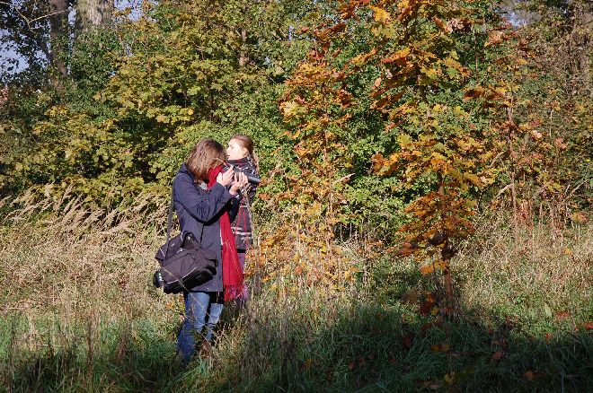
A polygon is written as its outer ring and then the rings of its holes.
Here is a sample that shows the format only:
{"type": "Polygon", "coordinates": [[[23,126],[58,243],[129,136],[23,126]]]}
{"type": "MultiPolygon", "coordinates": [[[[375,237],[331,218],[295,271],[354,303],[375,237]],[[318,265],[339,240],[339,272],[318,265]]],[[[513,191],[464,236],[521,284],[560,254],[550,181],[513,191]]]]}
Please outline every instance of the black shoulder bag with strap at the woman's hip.
{"type": "MultiPolygon", "coordinates": [[[[155,287],[163,287],[164,293],[181,293],[204,284],[217,274],[217,254],[200,247],[190,231],[181,231],[171,238],[173,221],[173,192],[167,218],[167,242],[156,251],[155,258],[161,265],[153,276],[155,287]]],[[[202,226],[202,231],[204,227],[202,226]]]]}

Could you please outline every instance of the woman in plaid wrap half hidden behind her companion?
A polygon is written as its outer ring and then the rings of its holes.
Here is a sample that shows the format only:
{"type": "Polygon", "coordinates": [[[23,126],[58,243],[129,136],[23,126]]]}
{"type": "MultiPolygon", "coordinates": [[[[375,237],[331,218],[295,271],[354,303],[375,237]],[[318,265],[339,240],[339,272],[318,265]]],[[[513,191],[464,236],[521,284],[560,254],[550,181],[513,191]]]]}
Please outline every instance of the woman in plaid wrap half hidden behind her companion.
{"type": "MultiPolygon", "coordinates": [[[[257,156],[253,153],[253,141],[249,136],[234,135],[228,142],[226,157],[229,164],[259,178],[257,156]]],[[[232,223],[233,233],[235,234],[235,245],[242,269],[245,267],[245,252],[253,244],[252,212],[250,205],[255,196],[256,188],[257,185],[251,183],[243,188],[243,198],[239,205],[239,211],[235,221],[232,223]]],[[[245,301],[248,296],[249,293],[245,288],[243,293],[237,295],[237,298],[245,301]]]]}

